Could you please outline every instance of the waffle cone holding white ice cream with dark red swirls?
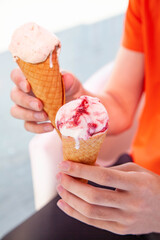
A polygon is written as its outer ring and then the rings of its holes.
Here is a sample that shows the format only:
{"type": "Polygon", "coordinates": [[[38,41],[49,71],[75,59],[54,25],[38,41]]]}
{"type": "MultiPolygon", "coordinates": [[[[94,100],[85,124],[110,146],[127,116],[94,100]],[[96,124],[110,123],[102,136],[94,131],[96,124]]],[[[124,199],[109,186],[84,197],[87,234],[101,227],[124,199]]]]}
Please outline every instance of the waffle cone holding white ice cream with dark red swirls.
{"type": "Polygon", "coordinates": [[[81,96],[63,105],[56,124],[62,134],[64,160],[93,165],[108,129],[108,114],[99,99],[81,96]]]}

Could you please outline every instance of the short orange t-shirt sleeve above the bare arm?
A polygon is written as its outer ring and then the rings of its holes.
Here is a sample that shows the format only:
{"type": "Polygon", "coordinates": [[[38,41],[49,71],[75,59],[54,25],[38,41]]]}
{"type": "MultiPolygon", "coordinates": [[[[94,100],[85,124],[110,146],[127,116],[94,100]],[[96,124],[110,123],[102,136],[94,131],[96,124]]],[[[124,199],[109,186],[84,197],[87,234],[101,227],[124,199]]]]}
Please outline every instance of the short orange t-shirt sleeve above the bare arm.
{"type": "Polygon", "coordinates": [[[122,46],[143,52],[141,0],[129,0],[125,16],[122,46]]]}

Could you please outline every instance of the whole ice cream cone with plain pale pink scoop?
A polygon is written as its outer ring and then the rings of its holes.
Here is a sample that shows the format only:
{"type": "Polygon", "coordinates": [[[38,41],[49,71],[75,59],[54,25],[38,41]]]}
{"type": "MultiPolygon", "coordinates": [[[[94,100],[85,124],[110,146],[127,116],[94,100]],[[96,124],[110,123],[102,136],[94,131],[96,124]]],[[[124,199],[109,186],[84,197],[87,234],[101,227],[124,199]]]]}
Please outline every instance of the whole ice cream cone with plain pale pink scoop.
{"type": "MultiPolygon", "coordinates": [[[[58,63],[60,47],[58,38],[36,23],[26,23],[17,28],[9,46],[14,60],[34,95],[43,102],[44,111],[55,128],[56,113],[65,102],[58,63]]],[[[58,130],[57,133],[60,135],[58,130]]]]}

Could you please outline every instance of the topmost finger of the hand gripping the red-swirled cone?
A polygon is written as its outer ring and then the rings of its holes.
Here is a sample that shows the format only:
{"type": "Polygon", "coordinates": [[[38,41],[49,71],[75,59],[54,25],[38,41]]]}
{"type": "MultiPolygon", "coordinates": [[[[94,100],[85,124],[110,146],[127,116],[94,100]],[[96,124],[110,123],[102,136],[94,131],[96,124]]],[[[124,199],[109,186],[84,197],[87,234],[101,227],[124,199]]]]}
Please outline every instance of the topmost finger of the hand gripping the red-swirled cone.
{"type": "Polygon", "coordinates": [[[134,175],[130,172],[123,172],[111,168],[88,166],[70,161],[62,161],[59,168],[71,176],[122,190],[129,190],[132,188],[134,182],[134,175]]]}

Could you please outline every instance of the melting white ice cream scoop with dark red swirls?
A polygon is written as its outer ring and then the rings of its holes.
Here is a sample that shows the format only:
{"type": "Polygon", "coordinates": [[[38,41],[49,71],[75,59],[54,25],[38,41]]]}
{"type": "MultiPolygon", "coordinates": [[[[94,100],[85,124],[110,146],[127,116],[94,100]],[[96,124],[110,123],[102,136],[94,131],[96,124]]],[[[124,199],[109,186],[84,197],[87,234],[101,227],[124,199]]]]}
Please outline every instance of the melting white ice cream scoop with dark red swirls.
{"type": "Polygon", "coordinates": [[[63,105],[56,115],[56,126],[63,136],[73,137],[76,148],[79,139],[87,140],[91,136],[108,129],[108,113],[98,98],[81,96],[63,105]]]}

